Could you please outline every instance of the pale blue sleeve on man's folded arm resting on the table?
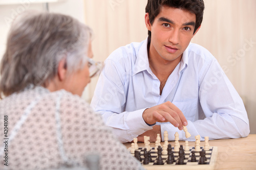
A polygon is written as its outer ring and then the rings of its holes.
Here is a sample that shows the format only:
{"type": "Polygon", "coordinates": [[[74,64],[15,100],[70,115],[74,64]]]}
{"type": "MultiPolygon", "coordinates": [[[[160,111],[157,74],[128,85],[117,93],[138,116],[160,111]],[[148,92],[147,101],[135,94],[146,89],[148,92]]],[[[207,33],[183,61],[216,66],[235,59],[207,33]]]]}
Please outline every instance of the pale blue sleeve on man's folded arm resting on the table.
{"type": "Polygon", "coordinates": [[[191,137],[186,139],[184,131],[161,124],[161,132],[167,130],[169,140],[179,133],[181,140],[194,141],[196,135],[209,139],[246,137],[249,134],[249,120],[238,92],[226,77],[217,60],[212,60],[202,69],[199,79],[199,120],[188,120],[187,129],[191,137]]]}

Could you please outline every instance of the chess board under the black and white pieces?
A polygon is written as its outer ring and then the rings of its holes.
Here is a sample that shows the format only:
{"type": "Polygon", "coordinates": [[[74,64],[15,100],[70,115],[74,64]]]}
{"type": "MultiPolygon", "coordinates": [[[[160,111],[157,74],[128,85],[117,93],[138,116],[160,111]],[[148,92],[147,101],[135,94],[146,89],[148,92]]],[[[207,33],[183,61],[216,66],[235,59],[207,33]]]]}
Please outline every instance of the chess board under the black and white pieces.
{"type": "MultiPolygon", "coordinates": [[[[209,147],[209,151],[205,151],[205,156],[207,158],[207,161],[205,161],[205,164],[199,164],[199,158],[200,154],[199,151],[195,151],[195,147],[189,147],[189,151],[184,151],[185,152],[185,159],[184,159],[184,164],[178,164],[178,157],[179,157],[179,152],[174,152],[174,157],[175,157],[175,162],[173,164],[167,164],[166,159],[167,155],[162,155],[162,159],[164,164],[163,165],[158,165],[156,164],[157,160],[157,151],[155,151],[155,148],[151,148],[151,157],[152,161],[144,165],[143,160],[144,160],[144,148],[139,148],[137,151],[140,152],[141,155],[141,163],[145,169],[214,169],[217,161],[217,155],[218,155],[218,147],[209,147]],[[197,162],[191,162],[191,151],[195,151],[196,159],[197,162]]],[[[203,147],[200,148],[201,150],[203,147]]],[[[129,151],[131,148],[128,149],[129,151]]],[[[173,148],[174,151],[174,148],[173,148]]],[[[132,154],[134,156],[134,154],[132,154]]]]}

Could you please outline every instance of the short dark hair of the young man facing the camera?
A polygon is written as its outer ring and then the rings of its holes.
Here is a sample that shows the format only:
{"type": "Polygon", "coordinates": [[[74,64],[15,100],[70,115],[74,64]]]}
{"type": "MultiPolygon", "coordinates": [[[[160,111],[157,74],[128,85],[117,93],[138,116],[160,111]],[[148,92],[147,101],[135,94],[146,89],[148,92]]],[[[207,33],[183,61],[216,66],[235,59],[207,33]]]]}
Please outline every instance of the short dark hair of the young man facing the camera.
{"type": "MultiPolygon", "coordinates": [[[[151,25],[153,25],[156,16],[160,13],[160,9],[162,6],[179,8],[196,14],[196,25],[194,33],[202,23],[204,14],[203,0],[148,0],[145,10],[146,13],[148,12],[148,15],[150,17],[151,25]]],[[[151,31],[148,31],[148,37],[151,37],[151,31]]]]}

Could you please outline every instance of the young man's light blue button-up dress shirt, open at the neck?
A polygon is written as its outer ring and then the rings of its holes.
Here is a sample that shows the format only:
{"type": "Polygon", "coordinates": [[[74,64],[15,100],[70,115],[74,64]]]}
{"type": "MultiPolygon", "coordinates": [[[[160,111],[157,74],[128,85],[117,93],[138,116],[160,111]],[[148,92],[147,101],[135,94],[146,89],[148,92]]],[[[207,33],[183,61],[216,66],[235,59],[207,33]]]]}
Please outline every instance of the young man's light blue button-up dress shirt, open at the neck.
{"type": "Polygon", "coordinates": [[[238,138],[249,134],[248,116],[236,89],[217,60],[202,46],[190,43],[180,63],[168,77],[160,95],[160,81],[148,63],[147,39],[119,47],[106,60],[91,107],[106,125],[113,128],[121,142],[152,129],[142,113],[164,102],[175,104],[188,120],[185,137],[170,123],[161,125],[169,140],[175,132],[180,140],[238,138]]]}

